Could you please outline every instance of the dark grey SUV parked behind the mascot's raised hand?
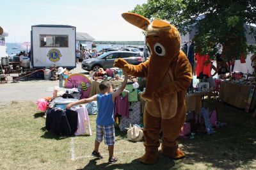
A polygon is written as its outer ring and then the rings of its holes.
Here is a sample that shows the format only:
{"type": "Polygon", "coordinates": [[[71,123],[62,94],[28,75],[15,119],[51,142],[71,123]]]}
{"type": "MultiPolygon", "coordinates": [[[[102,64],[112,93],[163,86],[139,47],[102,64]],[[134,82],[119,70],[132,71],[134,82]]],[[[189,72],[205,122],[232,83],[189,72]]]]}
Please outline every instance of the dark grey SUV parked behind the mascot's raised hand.
{"type": "Polygon", "coordinates": [[[99,68],[112,68],[115,60],[118,58],[124,58],[132,65],[138,65],[143,60],[138,52],[116,50],[105,52],[97,58],[84,59],[82,62],[82,68],[87,71],[96,71],[99,70],[99,68]]]}

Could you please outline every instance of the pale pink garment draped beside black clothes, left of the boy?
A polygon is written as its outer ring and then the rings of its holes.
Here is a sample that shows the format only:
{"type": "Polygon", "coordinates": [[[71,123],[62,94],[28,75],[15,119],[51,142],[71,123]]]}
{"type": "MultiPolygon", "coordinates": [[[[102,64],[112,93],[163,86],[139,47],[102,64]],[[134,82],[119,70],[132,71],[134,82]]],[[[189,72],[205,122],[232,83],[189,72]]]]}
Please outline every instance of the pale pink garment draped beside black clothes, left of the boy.
{"type": "Polygon", "coordinates": [[[87,109],[85,107],[79,107],[77,111],[77,130],[75,135],[83,135],[86,133],[86,127],[89,129],[89,134],[92,135],[92,129],[90,125],[90,120],[88,116],[87,109]]]}

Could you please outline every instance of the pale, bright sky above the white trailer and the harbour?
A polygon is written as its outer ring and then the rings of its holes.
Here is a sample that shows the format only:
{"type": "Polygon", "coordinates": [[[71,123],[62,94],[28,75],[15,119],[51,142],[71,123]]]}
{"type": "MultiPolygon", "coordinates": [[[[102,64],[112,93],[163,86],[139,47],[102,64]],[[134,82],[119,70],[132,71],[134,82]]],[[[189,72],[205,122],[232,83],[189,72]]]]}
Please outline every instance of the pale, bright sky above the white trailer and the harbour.
{"type": "Polygon", "coordinates": [[[140,29],[121,14],[147,0],[3,0],[0,26],[8,30],[6,42],[30,41],[31,26],[63,24],[76,26],[95,40],[143,41],[140,29]]]}

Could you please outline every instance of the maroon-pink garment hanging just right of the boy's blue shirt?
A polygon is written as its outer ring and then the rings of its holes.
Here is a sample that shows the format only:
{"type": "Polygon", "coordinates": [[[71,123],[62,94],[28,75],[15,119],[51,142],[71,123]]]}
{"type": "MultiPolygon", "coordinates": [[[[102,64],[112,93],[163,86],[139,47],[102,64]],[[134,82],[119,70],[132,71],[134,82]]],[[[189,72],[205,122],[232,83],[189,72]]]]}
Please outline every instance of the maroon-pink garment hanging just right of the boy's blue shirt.
{"type": "Polygon", "coordinates": [[[129,118],[128,95],[125,95],[125,97],[122,97],[121,95],[116,97],[115,115],[116,114],[129,118]]]}

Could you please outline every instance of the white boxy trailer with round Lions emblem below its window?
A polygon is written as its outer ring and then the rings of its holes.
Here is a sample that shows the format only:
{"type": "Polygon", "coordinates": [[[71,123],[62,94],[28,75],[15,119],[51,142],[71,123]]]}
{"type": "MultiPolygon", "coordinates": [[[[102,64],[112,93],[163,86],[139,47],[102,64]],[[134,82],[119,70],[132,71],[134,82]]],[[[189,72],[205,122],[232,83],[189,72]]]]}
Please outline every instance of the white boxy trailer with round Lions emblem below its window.
{"type": "Polygon", "coordinates": [[[33,68],[76,68],[76,27],[31,26],[31,63],[33,68]]]}

